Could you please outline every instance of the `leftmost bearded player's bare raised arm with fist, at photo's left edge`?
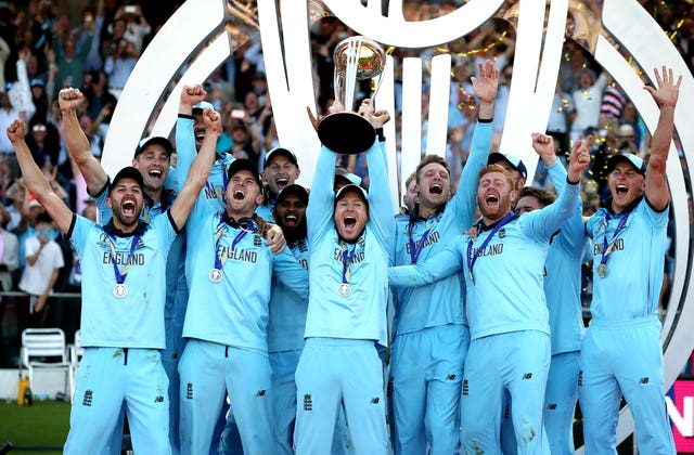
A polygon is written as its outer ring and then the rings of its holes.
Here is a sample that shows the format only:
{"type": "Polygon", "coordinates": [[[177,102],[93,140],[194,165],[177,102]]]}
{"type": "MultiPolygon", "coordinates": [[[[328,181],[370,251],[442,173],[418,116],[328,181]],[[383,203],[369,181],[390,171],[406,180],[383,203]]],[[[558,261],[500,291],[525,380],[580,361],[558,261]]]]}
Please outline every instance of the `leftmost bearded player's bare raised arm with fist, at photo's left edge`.
{"type": "Polygon", "coordinates": [[[14,120],[8,127],[8,138],[10,142],[12,142],[12,145],[14,145],[14,152],[17,156],[20,168],[22,169],[22,176],[24,176],[24,184],[34,197],[36,197],[36,200],[48,211],[55,222],[55,225],[57,225],[63,233],[67,233],[73,221],[73,211],[65,205],[63,199],[53,193],[51,183],[36,165],[36,161],[34,161],[31,152],[24,140],[25,134],[26,125],[22,119],[14,120]]]}

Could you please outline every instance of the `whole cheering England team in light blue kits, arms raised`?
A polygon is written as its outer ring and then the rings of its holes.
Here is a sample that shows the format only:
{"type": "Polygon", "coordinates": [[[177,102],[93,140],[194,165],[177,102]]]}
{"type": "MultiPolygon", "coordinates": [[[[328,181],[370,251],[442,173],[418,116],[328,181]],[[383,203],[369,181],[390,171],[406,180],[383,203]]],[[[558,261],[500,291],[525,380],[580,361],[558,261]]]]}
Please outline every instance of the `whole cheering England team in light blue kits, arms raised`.
{"type": "Polygon", "coordinates": [[[556,194],[526,186],[520,159],[490,153],[499,73],[487,62],[479,75],[458,191],[446,161],[424,156],[395,218],[390,116],[371,100],[358,112],[376,132],[368,191],[323,146],[309,195],[286,148],[262,176],[216,152],[221,119],[202,86],[181,93],[176,166],[171,142],[145,138],[111,179],[77,120],[83,95],[63,89],[67,148],[101,224],[52,192],[15,120],[24,181],[83,271],[65,453],[119,453],[127,415],[137,453],[573,454],[577,402],[586,453],[616,453],[624,395],[640,452],[673,454],[657,304],[681,77],[655,70],[647,162],[613,155],[611,197],[583,219],[593,138],[565,168],[552,138],[532,134],[556,194]]]}

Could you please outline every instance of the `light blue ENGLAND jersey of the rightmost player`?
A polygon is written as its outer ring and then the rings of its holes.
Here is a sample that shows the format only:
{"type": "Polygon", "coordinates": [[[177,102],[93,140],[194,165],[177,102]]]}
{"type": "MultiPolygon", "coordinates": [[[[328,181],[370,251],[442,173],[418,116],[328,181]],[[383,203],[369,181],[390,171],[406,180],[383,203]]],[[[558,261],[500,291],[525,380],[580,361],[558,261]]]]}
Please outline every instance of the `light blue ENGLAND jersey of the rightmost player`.
{"type": "Polygon", "coordinates": [[[657,314],[667,251],[668,206],[655,211],[645,197],[629,210],[614,213],[601,208],[586,223],[593,238],[593,300],[590,311],[596,321],[629,321],[657,314]],[[615,230],[629,217],[615,238],[615,230]],[[605,236],[614,245],[607,257],[607,275],[595,272],[603,258],[605,236]]]}

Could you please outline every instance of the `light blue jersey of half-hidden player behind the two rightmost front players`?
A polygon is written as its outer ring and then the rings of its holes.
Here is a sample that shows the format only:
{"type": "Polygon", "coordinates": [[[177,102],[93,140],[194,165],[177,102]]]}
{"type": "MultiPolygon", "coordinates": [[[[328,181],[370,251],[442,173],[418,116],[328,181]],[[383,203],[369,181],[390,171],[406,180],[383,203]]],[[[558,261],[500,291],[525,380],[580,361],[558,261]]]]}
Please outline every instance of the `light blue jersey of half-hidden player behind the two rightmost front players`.
{"type": "MultiPolygon", "coordinates": [[[[557,159],[548,168],[557,193],[566,186],[566,169],[557,159]]],[[[579,351],[583,333],[581,311],[581,263],[588,237],[583,231],[583,203],[552,237],[544,269],[544,296],[550,311],[552,355],[579,351]]]]}

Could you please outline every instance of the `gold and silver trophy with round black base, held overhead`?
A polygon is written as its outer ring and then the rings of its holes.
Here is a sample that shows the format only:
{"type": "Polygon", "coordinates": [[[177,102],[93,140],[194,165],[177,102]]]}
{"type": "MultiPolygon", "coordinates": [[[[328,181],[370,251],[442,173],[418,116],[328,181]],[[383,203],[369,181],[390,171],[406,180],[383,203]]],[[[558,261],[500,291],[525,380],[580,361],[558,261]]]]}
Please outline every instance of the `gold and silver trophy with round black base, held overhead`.
{"type": "MultiPolygon", "coordinates": [[[[386,55],[376,42],[356,36],[337,43],[333,61],[335,100],[345,106],[345,110],[323,118],[318,126],[318,136],[334,152],[359,154],[371,147],[376,133],[369,120],[352,112],[357,81],[381,75],[386,55]]],[[[377,91],[378,87],[372,98],[375,98],[377,91]]]]}

